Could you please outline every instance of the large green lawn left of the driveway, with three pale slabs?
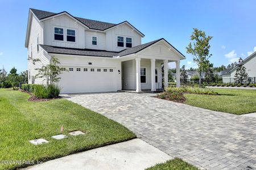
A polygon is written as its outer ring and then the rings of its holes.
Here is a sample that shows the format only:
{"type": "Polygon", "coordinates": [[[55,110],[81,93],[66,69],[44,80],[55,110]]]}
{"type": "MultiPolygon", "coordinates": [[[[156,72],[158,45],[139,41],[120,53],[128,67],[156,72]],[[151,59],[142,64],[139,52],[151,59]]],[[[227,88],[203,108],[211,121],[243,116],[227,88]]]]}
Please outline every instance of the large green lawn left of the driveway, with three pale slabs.
{"type": "Polygon", "coordinates": [[[0,89],[0,169],[26,167],[26,164],[5,165],[3,160],[47,161],[135,138],[124,126],[101,114],[85,109],[65,99],[28,101],[30,96],[20,91],[0,89]],[[62,140],[52,135],[81,130],[85,135],[62,140]],[[44,138],[43,145],[32,145],[32,139],[44,138]]]}

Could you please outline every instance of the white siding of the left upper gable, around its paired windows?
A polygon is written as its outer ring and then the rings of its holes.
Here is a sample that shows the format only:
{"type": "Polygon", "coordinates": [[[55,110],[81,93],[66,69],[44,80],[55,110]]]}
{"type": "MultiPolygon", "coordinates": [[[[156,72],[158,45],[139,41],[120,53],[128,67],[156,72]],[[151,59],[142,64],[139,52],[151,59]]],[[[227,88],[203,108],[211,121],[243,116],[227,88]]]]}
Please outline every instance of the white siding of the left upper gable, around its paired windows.
{"type": "Polygon", "coordinates": [[[84,27],[67,15],[61,15],[57,18],[44,21],[44,45],[63,46],[67,48],[85,48],[84,27]],[[54,27],[64,29],[64,41],[54,40],[54,27]],[[76,42],[67,41],[67,29],[75,29],[76,42]]]}

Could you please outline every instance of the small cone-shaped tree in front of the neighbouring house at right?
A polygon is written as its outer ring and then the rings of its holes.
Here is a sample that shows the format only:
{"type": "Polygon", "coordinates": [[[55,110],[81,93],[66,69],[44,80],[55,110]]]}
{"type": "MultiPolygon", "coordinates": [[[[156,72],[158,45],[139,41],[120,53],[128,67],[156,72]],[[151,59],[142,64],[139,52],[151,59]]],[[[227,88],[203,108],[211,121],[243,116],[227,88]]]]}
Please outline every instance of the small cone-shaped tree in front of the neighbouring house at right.
{"type": "Polygon", "coordinates": [[[246,73],[246,68],[242,64],[243,59],[239,58],[236,74],[234,75],[234,82],[245,83],[248,79],[248,74],[246,73]]]}

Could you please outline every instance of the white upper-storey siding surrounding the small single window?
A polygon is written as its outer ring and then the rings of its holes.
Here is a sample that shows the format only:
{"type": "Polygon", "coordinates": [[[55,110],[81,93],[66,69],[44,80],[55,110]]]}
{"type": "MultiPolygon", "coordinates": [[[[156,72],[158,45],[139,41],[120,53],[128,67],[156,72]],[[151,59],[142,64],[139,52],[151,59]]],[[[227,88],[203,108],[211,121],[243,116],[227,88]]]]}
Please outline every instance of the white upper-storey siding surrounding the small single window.
{"type": "Polygon", "coordinates": [[[106,50],[106,33],[85,31],[85,48],[106,50]],[[97,37],[97,45],[92,44],[92,37],[97,37]]]}

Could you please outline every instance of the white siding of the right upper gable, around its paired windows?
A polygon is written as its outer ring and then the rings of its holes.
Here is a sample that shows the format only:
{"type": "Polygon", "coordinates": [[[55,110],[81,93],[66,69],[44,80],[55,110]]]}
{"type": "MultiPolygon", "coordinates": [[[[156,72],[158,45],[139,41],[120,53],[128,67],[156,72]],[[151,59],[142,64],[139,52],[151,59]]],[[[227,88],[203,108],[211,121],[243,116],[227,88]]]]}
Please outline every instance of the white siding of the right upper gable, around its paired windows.
{"type": "Polygon", "coordinates": [[[133,46],[141,45],[141,36],[133,28],[127,24],[123,24],[106,32],[106,50],[119,52],[125,49],[125,47],[117,46],[117,36],[131,37],[133,46]]]}

